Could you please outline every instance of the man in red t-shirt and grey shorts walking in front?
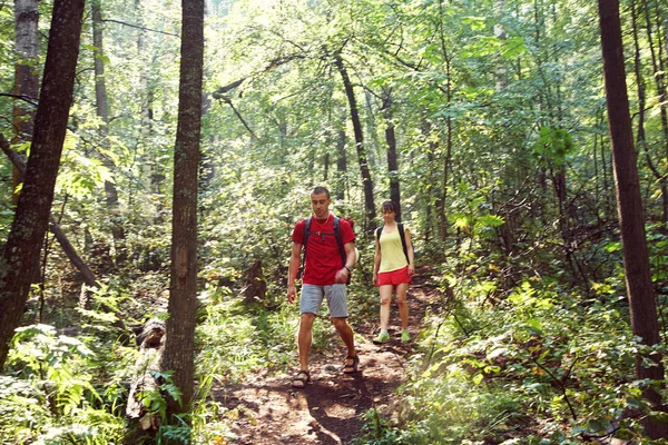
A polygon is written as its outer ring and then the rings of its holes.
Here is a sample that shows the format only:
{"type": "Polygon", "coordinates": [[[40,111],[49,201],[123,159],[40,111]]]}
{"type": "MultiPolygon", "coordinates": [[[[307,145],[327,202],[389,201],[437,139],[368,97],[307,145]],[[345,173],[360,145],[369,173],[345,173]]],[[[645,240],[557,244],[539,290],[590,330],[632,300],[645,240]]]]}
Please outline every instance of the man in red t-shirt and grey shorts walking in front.
{"type": "MultiPolygon", "coordinates": [[[[323,297],[327,298],[332,324],[336,327],[341,339],[347,348],[343,372],[346,374],[356,373],[360,365],[360,357],[357,357],[357,353],[355,352],[353,329],[346,322],[348,315],[346,283],[355,265],[355,234],[351,225],[343,218],[340,218],[338,229],[345,251],[345,261],[343,261],[336,237],[334,236],[334,215],[330,214],[331,204],[332,198],[326,188],[315,187],[313,189],[311,194],[313,216],[311,217],[311,229],[304,251],[306,258],[304,261],[299,300],[299,310],[302,313],[299,333],[297,335],[299,370],[295,374],[292,383],[295,388],[303,388],[311,382],[311,374],[308,372],[311,333],[315,316],[323,303],[323,297]]],[[[291,304],[294,303],[297,295],[295,279],[301,264],[305,229],[306,221],[301,220],[296,224],[292,234],[293,248],[287,269],[287,300],[291,304]]]]}

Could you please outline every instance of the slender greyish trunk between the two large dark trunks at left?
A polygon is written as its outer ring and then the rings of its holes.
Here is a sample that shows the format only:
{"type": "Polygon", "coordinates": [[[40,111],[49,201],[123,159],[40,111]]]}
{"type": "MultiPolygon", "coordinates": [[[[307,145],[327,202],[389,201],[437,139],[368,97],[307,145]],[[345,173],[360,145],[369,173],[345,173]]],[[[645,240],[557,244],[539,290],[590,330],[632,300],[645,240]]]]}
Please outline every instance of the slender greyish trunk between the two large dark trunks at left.
{"type": "MultiPolygon", "coordinates": [[[[95,99],[96,112],[102,121],[100,126],[100,146],[105,150],[110,150],[109,146],[109,107],[107,101],[107,85],[105,82],[105,51],[104,51],[104,32],[102,32],[102,13],[100,11],[100,0],[91,2],[92,16],[92,44],[94,66],[95,66],[95,99]]],[[[110,171],[114,171],[116,166],[108,155],[101,155],[102,162],[110,171]]],[[[105,180],[105,198],[107,202],[107,211],[111,224],[111,236],[114,237],[114,247],[116,249],[116,263],[122,264],[126,260],[125,249],[125,233],[120,221],[120,207],[118,204],[118,190],[116,184],[110,180],[105,180]]]]}

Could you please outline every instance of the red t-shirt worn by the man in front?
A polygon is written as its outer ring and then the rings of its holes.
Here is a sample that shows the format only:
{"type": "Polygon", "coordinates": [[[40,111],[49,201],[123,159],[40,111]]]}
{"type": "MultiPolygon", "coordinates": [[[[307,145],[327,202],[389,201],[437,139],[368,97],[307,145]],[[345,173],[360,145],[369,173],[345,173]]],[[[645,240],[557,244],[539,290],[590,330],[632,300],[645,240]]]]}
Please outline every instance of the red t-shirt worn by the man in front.
{"type": "MultiPolygon", "coordinates": [[[[292,240],[304,244],[304,229],[306,220],[296,224],[292,240]]],[[[348,221],[338,219],[338,230],[344,245],[355,240],[355,234],[348,221]]],[[[302,254],[304,255],[304,254],[302,254]]],[[[335,276],[343,267],[338,245],[334,236],[334,216],[330,215],[325,224],[321,224],[311,217],[311,236],[306,244],[306,264],[304,265],[304,277],[302,283],[306,285],[330,286],[335,284],[335,276]]]]}

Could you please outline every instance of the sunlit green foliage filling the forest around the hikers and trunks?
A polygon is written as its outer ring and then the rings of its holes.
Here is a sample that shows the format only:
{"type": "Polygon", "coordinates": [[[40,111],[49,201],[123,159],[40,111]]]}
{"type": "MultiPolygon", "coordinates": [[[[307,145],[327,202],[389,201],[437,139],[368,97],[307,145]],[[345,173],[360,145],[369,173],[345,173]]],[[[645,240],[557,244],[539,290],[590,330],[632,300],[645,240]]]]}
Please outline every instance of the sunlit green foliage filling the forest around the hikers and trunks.
{"type": "MultiPolygon", "coordinates": [[[[14,443],[116,441],[136,350],[114,343],[111,323],[141,324],[167,310],[180,7],[174,0],[126,3],[102,6],[104,17],[115,20],[105,23],[107,128],[96,112],[90,29],[82,34],[53,201],[102,287],[91,307],[78,307],[80,278],[57,247],[49,249],[43,291],[31,295],[26,312],[32,325],[18,334],[10,374],[0,383],[0,435],[14,443]],[[118,208],[106,207],[106,184],[116,186],[118,208]],[[122,241],[114,239],[112,222],[122,227],[122,241]],[[38,319],[85,335],[60,337],[38,319]]],[[[434,312],[424,333],[424,362],[415,363],[402,393],[414,413],[405,428],[370,412],[361,441],[567,444],[602,435],[611,422],[620,425],[620,438],[642,441],[639,419],[621,415],[648,412],[639,394],[649,383],[632,379],[640,347],[627,323],[598,29],[591,26],[596,4],[501,3],[214,2],[198,209],[202,388],[193,428],[164,427],[160,441],[232,437],[226,419],[238,412],[207,399],[207,388],[263,369],[281,372],[294,360],[298,316],[284,304],[285,276],[291,230],[310,212],[311,187],[341,192],[334,210],[352,216],[358,233],[370,222],[334,51],[354,83],[374,197],[384,200],[390,180],[400,180],[419,263],[433,265],[434,281],[454,298],[434,312]],[[235,81],[224,97],[210,99],[235,81]],[[399,155],[392,172],[390,125],[399,155]],[[340,171],[343,159],[346,170],[340,171]],[[563,175],[567,208],[556,205],[549,169],[563,175]],[[266,297],[244,305],[245,273],[257,259],[266,297]]],[[[40,2],[40,16],[50,17],[51,7],[40,2]]],[[[630,39],[629,10],[622,13],[630,39]]],[[[0,91],[10,92],[11,2],[0,7],[0,91]]],[[[43,59],[48,20],[40,20],[40,31],[43,59]]],[[[667,165],[661,101],[644,39],[639,58],[650,99],[640,186],[646,214],[660,221],[657,178],[667,165]]],[[[0,100],[0,131],[8,139],[13,103],[0,100]]],[[[0,239],[13,217],[10,175],[9,162],[0,162],[0,239]]],[[[648,225],[648,237],[666,319],[665,227],[648,225]]],[[[363,265],[350,288],[352,319],[370,319],[377,316],[372,240],[361,237],[357,247],[363,265]]],[[[336,335],[328,322],[316,324],[315,353],[336,335]]],[[[147,396],[164,412],[163,394],[147,396]]]]}

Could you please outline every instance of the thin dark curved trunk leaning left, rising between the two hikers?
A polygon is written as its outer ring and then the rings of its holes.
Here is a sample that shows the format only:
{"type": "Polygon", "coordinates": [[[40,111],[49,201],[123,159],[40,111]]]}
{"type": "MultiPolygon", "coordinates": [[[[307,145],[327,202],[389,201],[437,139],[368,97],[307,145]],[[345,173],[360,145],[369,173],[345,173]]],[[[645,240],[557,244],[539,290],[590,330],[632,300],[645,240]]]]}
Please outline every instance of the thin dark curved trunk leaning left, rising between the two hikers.
{"type": "Polygon", "coordinates": [[[360,122],[360,112],[357,110],[357,101],[355,100],[355,91],[353,90],[353,83],[347,75],[345,65],[341,53],[334,55],[334,65],[338,69],[338,73],[343,79],[343,87],[345,89],[345,96],[348,100],[351,108],[351,120],[353,122],[353,131],[355,134],[355,147],[357,149],[357,161],[360,162],[360,174],[362,175],[362,184],[364,186],[364,209],[366,221],[364,224],[364,231],[371,236],[376,228],[375,221],[375,204],[373,199],[373,181],[371,179],[371,172],[369,170],[369,162],[366,157],[366,150],[364,149],[364,136],[362,135],[362,122],[360,122]]]}

